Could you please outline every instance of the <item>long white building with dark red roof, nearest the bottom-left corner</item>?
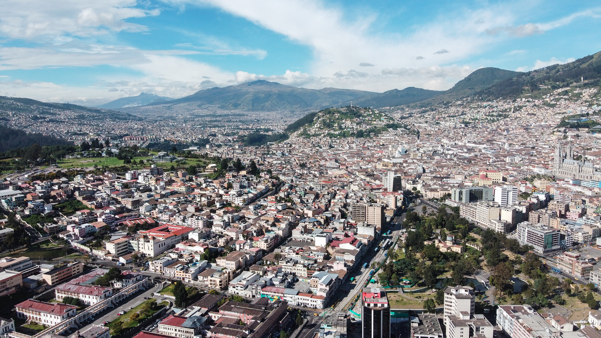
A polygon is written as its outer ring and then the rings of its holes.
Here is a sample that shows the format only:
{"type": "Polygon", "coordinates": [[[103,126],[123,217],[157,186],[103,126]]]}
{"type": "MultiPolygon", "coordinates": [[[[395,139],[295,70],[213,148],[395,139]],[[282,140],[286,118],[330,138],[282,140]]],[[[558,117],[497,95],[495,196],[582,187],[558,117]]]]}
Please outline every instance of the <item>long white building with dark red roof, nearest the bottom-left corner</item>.
{"type": "Polygon", "coordinates": [[[67,304],[46,303],[36,300],[26,300],[16,306],[17,318],[52,326],[75,316],[77,307],[67,304]]]}

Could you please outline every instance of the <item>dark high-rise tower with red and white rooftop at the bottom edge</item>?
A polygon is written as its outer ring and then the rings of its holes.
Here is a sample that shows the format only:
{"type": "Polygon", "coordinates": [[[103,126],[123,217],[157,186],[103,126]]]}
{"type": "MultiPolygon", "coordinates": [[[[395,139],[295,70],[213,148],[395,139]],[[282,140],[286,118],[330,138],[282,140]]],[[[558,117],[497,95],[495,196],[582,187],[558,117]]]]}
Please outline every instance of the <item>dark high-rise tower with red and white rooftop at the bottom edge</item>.
{"type": "Polygon", "coordinates": [[[390,338],[390,306],[386,292],[378,287],[361,290],[362,338],[390,338]]]}

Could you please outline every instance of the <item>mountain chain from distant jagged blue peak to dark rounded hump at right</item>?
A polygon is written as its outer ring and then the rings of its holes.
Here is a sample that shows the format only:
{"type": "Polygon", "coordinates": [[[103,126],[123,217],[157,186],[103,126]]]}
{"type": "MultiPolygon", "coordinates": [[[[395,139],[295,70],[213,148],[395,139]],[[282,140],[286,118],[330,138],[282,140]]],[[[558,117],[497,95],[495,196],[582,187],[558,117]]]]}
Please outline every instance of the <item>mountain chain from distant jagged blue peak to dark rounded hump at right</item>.
{"type": "MultiPolygon", "coordinates": [[[[278,82],[257,80],[239,85],[230,85],[228,87],[213,87],[199,90],[181,99],[174,99],[168,102],[155,101],[145,106],[159,106],[160,108],[169,110],[177,108],[178,105],[185,105],[186,108],[189,108],[192,103],[192,105],[200,109],[213,107],[223,110],[241,109],[245,111],[309,111],[350,104],[355,106],[370,106],[372,108],[401,106],[415,102],[429,102],[429,105],[432,105],[434,103],[473,95],[499,81],[513,78],[520,74],[522,73],[487,67],[475,70],[465,79],[457,82],[453,88],[446,91],[407,87],[403,90],[393,89],[384,93],[340,88],[308,89],[283,85],[278,82]]],[[[113,102],[117,103],[119,100],[134,99],[136,97],[139,96],[123,97],[100,107],[109,108],[109,105],[113,102]]],[[[130,112],[138,110],[133,105],[128,105],[127,107],[114,105],[110,108],[127,108],[126,110],[130,112]]]]}

